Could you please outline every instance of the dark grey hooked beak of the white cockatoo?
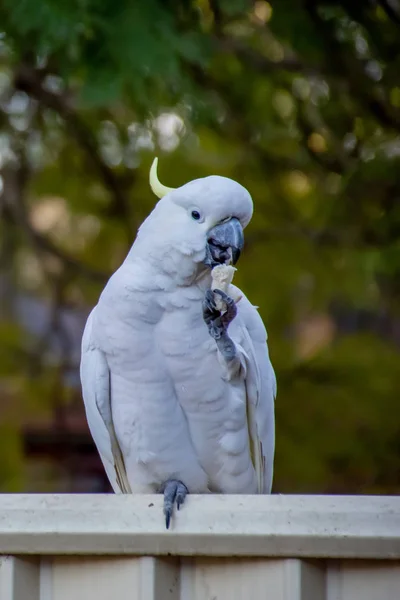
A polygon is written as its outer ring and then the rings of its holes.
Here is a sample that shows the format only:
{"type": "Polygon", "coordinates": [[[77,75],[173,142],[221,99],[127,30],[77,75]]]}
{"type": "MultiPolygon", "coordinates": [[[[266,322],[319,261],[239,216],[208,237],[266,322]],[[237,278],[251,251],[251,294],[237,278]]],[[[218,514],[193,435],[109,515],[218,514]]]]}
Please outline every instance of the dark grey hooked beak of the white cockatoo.
{"type": "Polygon", "coordinates": [[[232,217],[208,232],[204,264],[213,268],[230,262],[236,264],[243,249],[244,235],[240,221],[232,217]]]}

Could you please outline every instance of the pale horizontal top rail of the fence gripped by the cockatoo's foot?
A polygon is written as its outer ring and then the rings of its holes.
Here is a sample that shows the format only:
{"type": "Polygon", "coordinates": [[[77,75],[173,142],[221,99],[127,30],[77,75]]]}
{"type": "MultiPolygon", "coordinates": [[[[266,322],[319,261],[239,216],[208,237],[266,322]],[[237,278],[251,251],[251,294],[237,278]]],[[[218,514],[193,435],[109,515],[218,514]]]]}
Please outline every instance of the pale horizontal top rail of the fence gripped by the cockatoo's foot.
{"type": "Polygon", "coordinates": [[[400,497],[4,494],[0,554],[400,559],[400,497]]]}

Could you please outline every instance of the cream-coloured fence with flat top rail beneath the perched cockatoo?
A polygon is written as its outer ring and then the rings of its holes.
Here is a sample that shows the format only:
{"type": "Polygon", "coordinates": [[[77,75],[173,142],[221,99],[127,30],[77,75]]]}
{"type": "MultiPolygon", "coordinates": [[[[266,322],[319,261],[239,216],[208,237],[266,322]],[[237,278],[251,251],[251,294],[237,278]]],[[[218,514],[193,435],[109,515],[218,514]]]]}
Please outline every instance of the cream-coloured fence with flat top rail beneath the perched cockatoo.
{"type": "Polygon", "coordinates": [[[400,600],[400,498],[0,496],[0,600],[400,600]]]}

